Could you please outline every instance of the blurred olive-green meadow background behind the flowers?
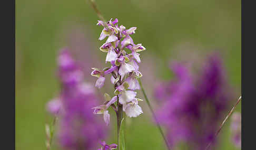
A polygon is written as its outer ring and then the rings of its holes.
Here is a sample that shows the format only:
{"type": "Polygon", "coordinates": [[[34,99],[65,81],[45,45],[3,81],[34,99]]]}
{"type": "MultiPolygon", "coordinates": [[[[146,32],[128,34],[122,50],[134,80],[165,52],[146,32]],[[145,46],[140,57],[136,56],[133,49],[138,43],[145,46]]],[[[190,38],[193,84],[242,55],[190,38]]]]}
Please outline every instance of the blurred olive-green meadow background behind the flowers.
{"type": "MultiPolygon", "coordinates": [[[[120,25],[137,27],[132,37],[147,49],[141,55],[142,73],[143,68],[146,72],[142,82],[172,79],[171,59],[188,58],[194,51],[216,50],[223,58],[233,93],[240,96],[241,1],[99,0],[96,3],[107,20],[118,18],[120,25]],[[186,52],[177,52],[182,50],[186,52]]],[[[105,53],[98,48],[103,42],[97,40],[102,27],[96,26],[97,20],[87,0],[16,1],[16,149],[45,149],[45,123],[52,121],[45,104],[60,92],[56,78],[59,49],[70,46],[78,53],[85,49],[90,52],[83,51],[83,55],[77,55],[78,60],[87,62],[95,58],[94,62],[99,64],[91,67],[104,66],[105,53]]],[[[92,84],[96,81],[90,77],[85,80],[92,84]]],[[[144,87],[152,103],[157,103],[152,97],[153,83],[144,82],[144,87]]],[[[111,90],[99,92],[104,91],[111,90]]],[[[147,106],[142,107],[144,114],[128,121],[127,149],[164,149],[147,106]]],[[[236,111],[241,111],[241,103],[236,111]]],[[[106,139],[109,143],[116,141],[115,123],[112,125],[113,132],[106,139]]],[[[235,149],[229,126],[230,121],[220,133],[220,149],[235,149]]]]}

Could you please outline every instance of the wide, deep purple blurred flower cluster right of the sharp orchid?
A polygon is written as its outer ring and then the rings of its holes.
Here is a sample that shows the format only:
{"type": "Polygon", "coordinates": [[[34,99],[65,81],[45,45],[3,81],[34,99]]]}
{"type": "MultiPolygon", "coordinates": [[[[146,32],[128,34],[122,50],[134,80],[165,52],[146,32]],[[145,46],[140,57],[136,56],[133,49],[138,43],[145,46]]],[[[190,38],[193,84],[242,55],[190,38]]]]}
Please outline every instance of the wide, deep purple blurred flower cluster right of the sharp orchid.
{"type": "Polygon", "coordinates": [[[208,56],[197,73],[192,66],[171,63],[176,78],[155,89],[160,103],[157,121],[166,128],[172,147],[185,142],[191,149],[204,149],[209,142],[216,143],[214,134],[232,94],[219,55],[208,56]]]}

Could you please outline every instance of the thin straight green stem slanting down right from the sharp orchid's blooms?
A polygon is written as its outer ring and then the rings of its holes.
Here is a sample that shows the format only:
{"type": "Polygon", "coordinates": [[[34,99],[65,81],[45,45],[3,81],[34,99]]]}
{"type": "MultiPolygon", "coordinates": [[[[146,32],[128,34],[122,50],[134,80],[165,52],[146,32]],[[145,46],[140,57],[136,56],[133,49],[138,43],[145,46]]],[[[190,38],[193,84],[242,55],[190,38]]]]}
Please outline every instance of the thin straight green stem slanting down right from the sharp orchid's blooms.
{"type": "Polygon", "coordinates": [[[162,137],[163,137],[163,139],[164,139],[164,142],[165,142],[166,147],[170,150],[171,148],[170,148],[170,146],[169,146],[169,144],[168,144],[168,141],[166,140],[166,138],[165,138],[165,136],[164,136],[164,133],[163,133],[163,131],[162,131],[162,128],[161,128],[159,122],[158,122],[157,119],[156,119],[156,115],[155,115],[155,113],[154,113],[154,111],[153,111],[153,108],[152,108],[150,102],[149,102],[149,99],[147,99],[147,96],[146,96],[146,93],[145,93],[145,91],[144,91],[144,88],[142,87],[141,79],[139,78],[138,81],[139,81],[139,83],[140,83],[141,91],[142,91],[142,93],[143,93],[143,95],[144,95],[144,98],[145,98],[145,100],[146,100],[146,103],[147,103],[147,105],[149,106],[151,113],[153,114],[153,117],[154,117],[154,119],[155,119],[157,128],[159,129],[159,131],[160,131],[160,133],[161,133],[161,135],[162,135],[162,137]]]}

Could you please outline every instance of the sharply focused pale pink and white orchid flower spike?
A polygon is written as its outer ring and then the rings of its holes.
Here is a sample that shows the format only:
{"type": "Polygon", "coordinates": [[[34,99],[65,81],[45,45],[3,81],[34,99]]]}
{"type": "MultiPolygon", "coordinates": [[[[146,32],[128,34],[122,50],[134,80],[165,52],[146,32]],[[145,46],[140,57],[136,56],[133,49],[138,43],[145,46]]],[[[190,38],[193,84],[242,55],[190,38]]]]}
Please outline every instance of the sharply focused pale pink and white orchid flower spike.
{"type": "MultiPolygon", "coordinates": [[[[140,89],[140,84],[137,81],[142,77],[139,71],[139,63],[141,63],[140,53],[146,48],[142,44],[134,44],[132,35],[135,34],[136,27],[127,28],[123,25],[118,25],[118,19],[110,19],[104,23],[98,20],[97,25],[103,26],[103,30],[99,40],[106,41],[100,47],[100,50],[106,52],[105,62],[110,62],[110,67],[104,69],[92,68],[92,76],[97,77],[95,87],[102,88],[105,82],[105,76],[111,74],[111,83],[114,84],[115,96],[111,100],[106,100],[103,105],[94,107],[94,114],[103,114],[103,119],[108,125],[110,122],[110,114],[108,109],[112,105],[115,108],[117,105],[122,106],[129,117],[137,117],[143,113],[142,108],[138,105],[135,90],[140,89]]],[[[110,99],[109,96],[107,96],[110,99]]],[[[115,110],[115,111],[116,111],[115,110]]],[[[118,110],[117,110],[118,111],[118,110]]]]}

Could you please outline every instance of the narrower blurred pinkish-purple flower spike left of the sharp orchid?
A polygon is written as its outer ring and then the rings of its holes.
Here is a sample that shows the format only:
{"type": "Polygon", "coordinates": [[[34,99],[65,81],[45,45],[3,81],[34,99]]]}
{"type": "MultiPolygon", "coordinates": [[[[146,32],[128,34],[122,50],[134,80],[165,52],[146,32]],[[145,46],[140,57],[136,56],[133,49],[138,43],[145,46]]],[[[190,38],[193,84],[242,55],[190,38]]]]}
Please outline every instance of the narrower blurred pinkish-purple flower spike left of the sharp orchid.
{"type": "Polygon", "coordinates": [[[64,149],[93,149],[106,135],[106,126],[95,118],[97,105],[94,87],[84,82],[84,73],[69,49],[58,55],[58,77],[61,93],[48,102],[48,111],[58,117],[58,141],[64,149]]]}

